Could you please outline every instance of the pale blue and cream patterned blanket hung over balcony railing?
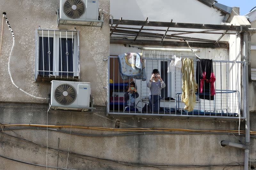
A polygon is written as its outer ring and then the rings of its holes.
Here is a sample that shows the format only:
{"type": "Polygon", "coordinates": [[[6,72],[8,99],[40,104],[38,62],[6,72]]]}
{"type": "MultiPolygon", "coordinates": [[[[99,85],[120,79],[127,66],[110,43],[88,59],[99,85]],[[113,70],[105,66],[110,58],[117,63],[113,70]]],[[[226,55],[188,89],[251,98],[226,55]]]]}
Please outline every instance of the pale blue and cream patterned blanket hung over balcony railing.
{"type": "Polygon", "coordinates": [[[146,80],[145,63],[141,53],[125,53],[118,55],[119,71],[123,79],[136,78],[146,80]]]}

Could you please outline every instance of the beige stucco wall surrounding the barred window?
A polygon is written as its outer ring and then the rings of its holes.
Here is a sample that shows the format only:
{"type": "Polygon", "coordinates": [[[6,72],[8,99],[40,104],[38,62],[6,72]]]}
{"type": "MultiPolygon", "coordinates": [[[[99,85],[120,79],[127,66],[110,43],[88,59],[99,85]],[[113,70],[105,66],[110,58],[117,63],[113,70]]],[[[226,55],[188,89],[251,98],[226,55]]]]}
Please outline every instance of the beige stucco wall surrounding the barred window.
{"type": "MultiPolygon", "coordinates": [[[[59,0],[1,1],[0,11],[6,12],[15,34],[15,46],[11,55],[11,73],[17,86],[38,97],[48,97],[50,84],[34,82],[35,29],[67,29],[74,26],[57,25],[55,11],[59,0]]],[[[109,0],[101,0],[100,8],[109,11],[109,0]]],[[[0,21],[2,26],[2,18],[0,21]]],[[[80,31],[80,81],[90,82],[96,105],[105,105],[107,62],[109,53],[109,25],[105,20],[100,27],[76,26],[80,31]]],[[[12,48],[12,35],[4,22],[0,60],[0,101],[47,103],[19,91],[12,85],[8,74],[8,59],[12,48]]]]}

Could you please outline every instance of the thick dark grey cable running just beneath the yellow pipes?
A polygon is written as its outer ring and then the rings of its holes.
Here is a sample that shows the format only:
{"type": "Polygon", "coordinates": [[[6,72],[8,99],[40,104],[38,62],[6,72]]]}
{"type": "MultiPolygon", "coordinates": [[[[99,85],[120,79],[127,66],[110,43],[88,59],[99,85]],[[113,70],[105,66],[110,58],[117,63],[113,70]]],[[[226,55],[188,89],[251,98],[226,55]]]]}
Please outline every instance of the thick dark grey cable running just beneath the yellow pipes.
{"type": "MultiPolygon", "coordinates": [[[[22,128],[4,128],[3,130],[21,130],[21,129],[40,129],[40,130],[46,130],[44,127],[22,127],[22,128]]],[[[67,133],[69,134],[70,132],[64,131],[64,130],[59,130],[59,129],[52,129],[48,128],[48,130],[60,132],[60,133],[67,133]]],[[[86,137],[117,137],[117,136],[132,136],[132,135],[168,135],[168,134],[174,134],[174,135],[190,135],[190,134],[224,134],[224,135],[238,135],[238,136],[245,136],[244,134],[238,134],[238,133],[231,133],[231,132],[136,132],[136,133],[122,133],[122,134],[108,134],[108,135],[93,135],[93,134],[84,134],[84,133],[76,133],[76,132],[71,132],[72,135],[78,135],[78,136],[86,136],[86,137]]],[[[256,136],[250,135],[252,138],[256,138],[256,136]]]]}

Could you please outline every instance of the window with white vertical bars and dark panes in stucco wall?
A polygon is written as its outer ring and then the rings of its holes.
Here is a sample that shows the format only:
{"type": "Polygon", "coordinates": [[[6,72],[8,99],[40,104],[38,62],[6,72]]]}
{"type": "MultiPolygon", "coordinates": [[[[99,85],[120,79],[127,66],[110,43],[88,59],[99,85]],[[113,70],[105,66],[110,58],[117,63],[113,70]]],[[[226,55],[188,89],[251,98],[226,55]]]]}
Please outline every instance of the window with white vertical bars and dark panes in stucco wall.
{"type": "Polygon", "coordinates": [[[35,81],[78,81],[79,31],[36,29],[35,81]]]}

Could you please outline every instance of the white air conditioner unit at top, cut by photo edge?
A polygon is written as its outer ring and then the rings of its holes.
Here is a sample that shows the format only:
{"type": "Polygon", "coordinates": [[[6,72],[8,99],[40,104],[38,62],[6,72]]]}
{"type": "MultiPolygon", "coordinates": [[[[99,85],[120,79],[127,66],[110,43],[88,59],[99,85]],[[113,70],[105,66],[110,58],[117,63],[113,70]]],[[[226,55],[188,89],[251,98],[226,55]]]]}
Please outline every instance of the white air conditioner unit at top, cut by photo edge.
{"type": "Polygon", "coordinates": [[[58,24],[96,25],[98,22],[101,22],[99,0],[60,0],[58,24]]]}

